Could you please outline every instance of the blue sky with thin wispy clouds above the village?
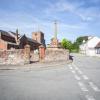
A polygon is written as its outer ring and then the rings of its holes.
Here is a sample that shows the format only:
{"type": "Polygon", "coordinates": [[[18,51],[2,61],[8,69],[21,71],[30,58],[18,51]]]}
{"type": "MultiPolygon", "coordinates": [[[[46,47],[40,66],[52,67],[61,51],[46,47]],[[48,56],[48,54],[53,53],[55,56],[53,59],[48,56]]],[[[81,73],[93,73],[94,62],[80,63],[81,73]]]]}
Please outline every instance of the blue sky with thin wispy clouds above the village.
{"type": "Polygon", "coordinates": [[[46,43],[54,36],[75,41],[79,36],[100,37],[100,0],[0,0],[0,30],[16,31],[32,37],[45,33],[46,43]]]}

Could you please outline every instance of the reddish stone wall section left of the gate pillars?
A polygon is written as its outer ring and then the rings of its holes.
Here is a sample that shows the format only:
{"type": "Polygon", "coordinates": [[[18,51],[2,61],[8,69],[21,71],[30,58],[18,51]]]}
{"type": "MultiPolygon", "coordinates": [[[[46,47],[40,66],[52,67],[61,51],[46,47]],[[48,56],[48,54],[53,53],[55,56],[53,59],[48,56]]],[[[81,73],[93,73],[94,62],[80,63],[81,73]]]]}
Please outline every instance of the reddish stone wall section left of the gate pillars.
{"type": "Polygon", "coordinates": [[[0,64],[24,64],[24,50],[0,50],[0,64]]]}

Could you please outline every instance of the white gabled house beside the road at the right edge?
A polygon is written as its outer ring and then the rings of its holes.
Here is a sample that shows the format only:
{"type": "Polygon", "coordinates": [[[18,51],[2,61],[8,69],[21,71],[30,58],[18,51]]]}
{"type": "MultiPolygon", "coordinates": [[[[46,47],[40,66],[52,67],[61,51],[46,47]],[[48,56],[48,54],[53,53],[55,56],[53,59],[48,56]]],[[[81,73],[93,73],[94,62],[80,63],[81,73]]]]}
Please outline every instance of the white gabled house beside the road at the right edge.
{"type": "Polygon", "coordinates": [[[100,55],[100,38],[99,37],[88,37],[88,41],[84,41],[80,45],[80,53],[88,56],[99,56],[100,55]]]}

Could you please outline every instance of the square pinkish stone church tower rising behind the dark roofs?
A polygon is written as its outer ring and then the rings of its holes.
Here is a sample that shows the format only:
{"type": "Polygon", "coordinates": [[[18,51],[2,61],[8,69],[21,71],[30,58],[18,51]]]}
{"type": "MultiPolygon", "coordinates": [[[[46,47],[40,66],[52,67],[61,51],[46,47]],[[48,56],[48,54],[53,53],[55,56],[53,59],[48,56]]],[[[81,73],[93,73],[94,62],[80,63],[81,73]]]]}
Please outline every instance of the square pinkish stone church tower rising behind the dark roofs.
{"type": "Polygon", "coordinates": [[[41,43],[43,46],[46,47],[45,39],[44,39],[44,33],[43,32],[41,32],[41,31],[33,32],[32,33],[32,39],[36,40],[37,42],[41,43]]]}

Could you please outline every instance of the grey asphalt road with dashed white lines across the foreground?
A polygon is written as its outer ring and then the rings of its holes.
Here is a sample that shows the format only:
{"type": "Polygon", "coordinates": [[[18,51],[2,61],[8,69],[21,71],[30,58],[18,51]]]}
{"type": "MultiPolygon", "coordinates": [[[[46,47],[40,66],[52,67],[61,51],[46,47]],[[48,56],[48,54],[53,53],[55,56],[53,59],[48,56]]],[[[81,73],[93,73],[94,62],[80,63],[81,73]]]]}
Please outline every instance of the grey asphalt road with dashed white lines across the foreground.
{"type": "Polygon", "coordinates": [[[72,56],[70,64],[0,70],[0,100],[100,100],[100,58],[72,56]]]}

